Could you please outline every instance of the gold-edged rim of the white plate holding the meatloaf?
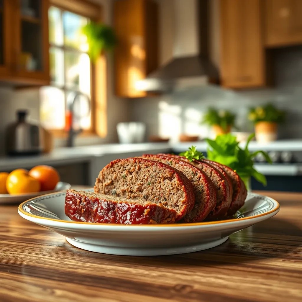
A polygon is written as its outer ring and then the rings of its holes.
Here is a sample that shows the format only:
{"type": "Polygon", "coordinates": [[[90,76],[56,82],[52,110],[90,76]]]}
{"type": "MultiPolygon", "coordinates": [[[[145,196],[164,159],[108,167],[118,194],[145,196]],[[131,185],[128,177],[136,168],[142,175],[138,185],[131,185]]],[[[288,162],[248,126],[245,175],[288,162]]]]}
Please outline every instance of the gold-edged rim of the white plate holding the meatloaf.
{"type": "MultiPolygon", "coordinates": [[[[91,189],[91,188],[90,188],[91,189]]],[[[86,189],[89,190],[89,189],[86,189]]],[[[268,198],[269,200],[273,201],[273,203],[275,204],[274,208],[269,210],[268,212],[262,213],[262,214],[257,214],[254,216],[249,216],[249,217],[242,217],[242,218],[234,218],[234,219],[225,219],[225,220],[218,220],[218,221],[202,221],[202,222],[191,222],[191,223],[171,223],[171,224],[120,224],[120,223],[91,223],[91,222],[83,222],[83,221],[68,221],[68,220],[62,220],[62,219],[54,219],[54,218],[47,218],[47,217],[40,217],[38,215],[34,215],[31,213],[26,212],[25,210],[23,210],[23,206],[24,204],[26,204],[27,202],[33,201],[34,199],[37,199],[39,197],[44,197],[44,196],[49,196],[49,195],[54,195],[54,194],[61,194],[66,190],[62,190],[62,191],[57,191],[57,192],[53,192],[50,194],[44,194],[44,195],[40,195],[34,198],[30,198],[24,202],[22,202],[19,206],[18,206],[18,213],[20,214],[21,217],[24,216],[29,216],[35,219],[39,219],[39,220],[50,220],[50,221],[54,221],[60,225],[63,225],[65,223],[68,224],[80,224],[80,225],[89,225],[89,226],[119,226],[119,227],[184,227],[184,226],[205,226],[205,225],[220,225],[223,223],[234,223],[234,222],[241,222],[241,221],[245,221],[245,220],[250,220],[250,219],[255,219],[255,218],[259,218],[259,217],[263,217],[263,216],[267,216],[270,215],[272,213],[275,213],[277,211],[279,211],[280,209],[280,204],[278,203],[278,201],[276,201],[274,198],[271,198],[269,196],[266,195],[261,195],[261,194],[257,194],[257,193],[252,193],[250,192],[249,194],[252,194],[255,196],[261,196],[262,198],[268,198]],[[23,214],[23,215],[21,215],[23,214]]],[[[277,214],[276,213],[276,214],[277,214]]],[[[25,217],[23,217],[25,218],[25,217]]]]}

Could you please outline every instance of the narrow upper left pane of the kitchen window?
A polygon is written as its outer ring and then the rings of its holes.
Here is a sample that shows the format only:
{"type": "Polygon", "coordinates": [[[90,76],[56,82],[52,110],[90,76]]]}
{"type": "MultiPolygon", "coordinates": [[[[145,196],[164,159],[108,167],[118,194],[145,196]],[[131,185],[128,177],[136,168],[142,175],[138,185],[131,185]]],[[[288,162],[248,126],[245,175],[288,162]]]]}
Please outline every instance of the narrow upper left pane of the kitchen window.
{"type": "Polygon", "coordinates": [[[61,11],[59,8],[50,7],[48,10],[49,18],[49,41],[56,45],[63,45],[63,25],[61,11]]]}

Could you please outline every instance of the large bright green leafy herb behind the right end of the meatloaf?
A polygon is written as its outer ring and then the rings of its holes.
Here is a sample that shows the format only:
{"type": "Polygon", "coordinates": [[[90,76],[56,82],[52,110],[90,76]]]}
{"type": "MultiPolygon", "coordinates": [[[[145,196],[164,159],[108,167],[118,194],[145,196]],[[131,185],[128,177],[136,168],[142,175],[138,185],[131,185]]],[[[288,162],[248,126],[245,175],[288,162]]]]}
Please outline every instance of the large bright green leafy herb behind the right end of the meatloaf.
{"type": "Polygon", "coordinates": [[[230,133],[218,135],[215,140],[206,139],[209,145],[207,149],[207,158],[236,170],[238,175],[243,179],[252,176],[258,182],[266,185],[265,176],[254,169],[253,159],[258,153],[261,153],[267,162],[272,162],[268,154],[264,151],[249,152],[248,145],[254,136],[254,133],[249,136],[244,149],[241,149],[236,137],[230,133]]]}

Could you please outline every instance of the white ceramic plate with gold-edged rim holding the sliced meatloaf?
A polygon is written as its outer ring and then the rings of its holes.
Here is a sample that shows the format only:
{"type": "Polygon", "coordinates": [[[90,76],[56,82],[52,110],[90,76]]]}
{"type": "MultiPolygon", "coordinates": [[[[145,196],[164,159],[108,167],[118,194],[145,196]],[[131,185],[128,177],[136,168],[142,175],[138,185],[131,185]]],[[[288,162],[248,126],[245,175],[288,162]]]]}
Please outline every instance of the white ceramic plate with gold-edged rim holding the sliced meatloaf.
{"type": "MultiPolygon", "coordinates": [[[[87,190],[91,191],[91,190],[87,190]]],[[[214,222],[121,225],[71,221],[64,213],[65,192],[25,201],[19,214],[66,237],[73,246],[114,255],[171,255],[217,246],[244,228],[279,211],[277,201],[249,193],[237,218],[214,222]]]]}

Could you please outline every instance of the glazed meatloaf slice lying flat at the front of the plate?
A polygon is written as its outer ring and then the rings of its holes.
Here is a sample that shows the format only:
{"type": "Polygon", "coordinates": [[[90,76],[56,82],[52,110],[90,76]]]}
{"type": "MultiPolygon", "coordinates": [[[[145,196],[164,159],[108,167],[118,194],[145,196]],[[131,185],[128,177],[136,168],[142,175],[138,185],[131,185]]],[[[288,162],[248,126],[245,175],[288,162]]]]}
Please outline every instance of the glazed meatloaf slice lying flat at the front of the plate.
{"type": "Polygon", "coordinates": [[[173,223],[176,217],[161,203],[75,190],[66,192],[65,214],[73,221],[120,224],[173,223]]]}

